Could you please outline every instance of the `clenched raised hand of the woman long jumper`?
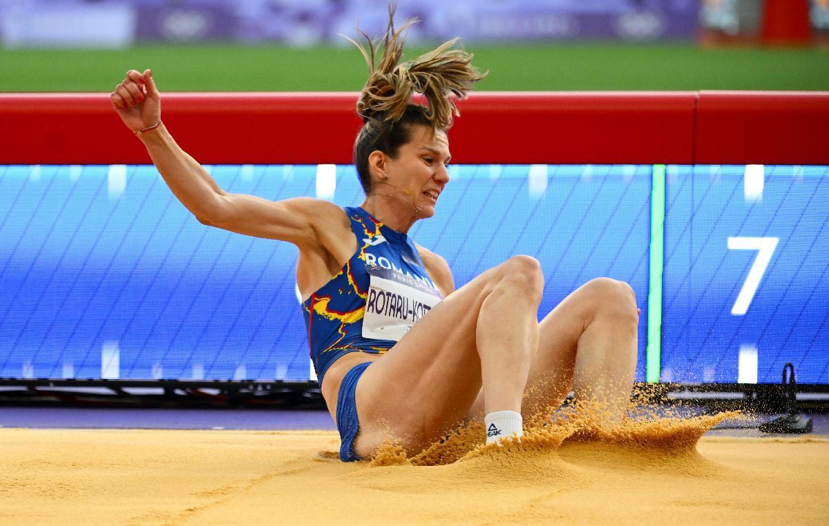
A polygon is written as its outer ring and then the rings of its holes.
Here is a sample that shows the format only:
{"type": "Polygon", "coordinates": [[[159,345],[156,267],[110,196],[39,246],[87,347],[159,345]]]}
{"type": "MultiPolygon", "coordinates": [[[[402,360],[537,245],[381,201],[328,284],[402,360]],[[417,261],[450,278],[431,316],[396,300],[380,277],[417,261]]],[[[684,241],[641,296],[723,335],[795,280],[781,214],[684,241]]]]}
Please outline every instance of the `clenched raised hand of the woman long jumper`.
{"type": "Polygon", "coordinates": [[[115,86],[109,100],[121,120],[133,132],[153,126],[161,120],[161,98],[150,70],[144,70],[143,74],[136,70],[127,71],[127,78],[115,86]]]}

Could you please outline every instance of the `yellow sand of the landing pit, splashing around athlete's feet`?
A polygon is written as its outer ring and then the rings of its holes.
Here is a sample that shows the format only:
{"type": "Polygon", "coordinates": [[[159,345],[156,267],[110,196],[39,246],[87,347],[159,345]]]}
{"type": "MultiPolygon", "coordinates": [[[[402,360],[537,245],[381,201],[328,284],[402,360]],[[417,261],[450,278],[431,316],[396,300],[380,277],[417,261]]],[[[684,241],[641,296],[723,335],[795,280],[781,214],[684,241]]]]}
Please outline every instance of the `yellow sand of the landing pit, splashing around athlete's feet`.
{"type": "Polygon", "coordinates": [[[719,420],[462,431],[396,466],[332,460],[335,432],[0,429],[0,524],[827,524],[829,440],[699,439],[719,420]]]}

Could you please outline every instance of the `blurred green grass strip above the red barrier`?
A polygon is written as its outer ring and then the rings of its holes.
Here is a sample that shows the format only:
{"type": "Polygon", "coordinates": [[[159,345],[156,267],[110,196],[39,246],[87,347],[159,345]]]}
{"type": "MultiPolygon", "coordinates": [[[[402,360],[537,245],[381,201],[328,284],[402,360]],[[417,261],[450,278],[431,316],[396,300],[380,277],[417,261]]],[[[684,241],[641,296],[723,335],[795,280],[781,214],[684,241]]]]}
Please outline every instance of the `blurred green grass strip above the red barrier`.
{"type": "MultiPolygon", "coordinates": [[[[490,70],[482,90],[829,89],[829,52],[686,45],[469,46],[490,70]]],[[[424,50],[410,50],[411,57],[424,50]]],[[[0,50],[0,91],[108,92],[128,68],[152,68],[162,91],[361,89],[352,47],[138,46],[0,50]]]]}

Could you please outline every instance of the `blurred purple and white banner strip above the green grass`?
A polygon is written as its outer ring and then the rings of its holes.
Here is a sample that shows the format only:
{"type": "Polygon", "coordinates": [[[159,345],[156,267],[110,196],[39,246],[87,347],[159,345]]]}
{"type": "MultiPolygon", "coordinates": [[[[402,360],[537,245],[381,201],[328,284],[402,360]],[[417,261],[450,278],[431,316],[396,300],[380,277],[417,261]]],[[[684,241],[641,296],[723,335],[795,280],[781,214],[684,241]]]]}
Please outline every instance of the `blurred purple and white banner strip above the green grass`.
{"type": "MultiPolygon", "coordinates": [[[[700,0],[400,0],[419,17],[410,41],[691,40],[700,0]]],[[[0,0],[5,46],[124,47],[240,41],[347,45],[356,26],[381,34],[385,0],[0,0]]]]}

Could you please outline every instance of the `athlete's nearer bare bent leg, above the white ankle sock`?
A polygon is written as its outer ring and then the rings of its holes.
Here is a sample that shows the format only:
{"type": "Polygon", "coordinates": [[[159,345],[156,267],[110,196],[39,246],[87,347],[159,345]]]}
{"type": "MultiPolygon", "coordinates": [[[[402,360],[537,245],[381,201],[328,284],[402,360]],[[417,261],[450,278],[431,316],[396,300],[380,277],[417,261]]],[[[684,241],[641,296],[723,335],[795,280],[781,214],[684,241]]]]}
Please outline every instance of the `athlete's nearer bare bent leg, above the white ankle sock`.
{"type": "Polygon", "coordinates": [[[520,411],[543,287],[538,262],[516,256],[429,311],[357,384],[357,455],[388,437],[428,446],[463,421],[482,379],[487,412],[520,411]]]}

